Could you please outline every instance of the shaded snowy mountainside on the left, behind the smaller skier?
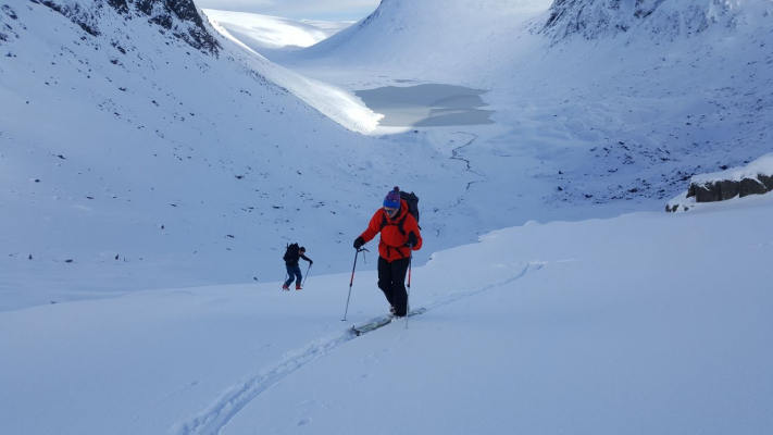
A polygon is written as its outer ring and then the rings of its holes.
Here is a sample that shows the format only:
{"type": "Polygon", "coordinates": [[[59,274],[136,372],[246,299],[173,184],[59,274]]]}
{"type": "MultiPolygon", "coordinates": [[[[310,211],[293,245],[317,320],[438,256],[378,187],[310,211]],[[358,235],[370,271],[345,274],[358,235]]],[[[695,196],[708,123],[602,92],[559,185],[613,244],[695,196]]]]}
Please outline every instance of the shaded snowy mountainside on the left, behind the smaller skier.
{"type": "Polygon", "coordinates": [[[341,127],[377,116],[194,11],[0,4],[3,309],[282,275],[287,241],[351,249],[396,183],[363,152],[376,141],[341,127]]]}

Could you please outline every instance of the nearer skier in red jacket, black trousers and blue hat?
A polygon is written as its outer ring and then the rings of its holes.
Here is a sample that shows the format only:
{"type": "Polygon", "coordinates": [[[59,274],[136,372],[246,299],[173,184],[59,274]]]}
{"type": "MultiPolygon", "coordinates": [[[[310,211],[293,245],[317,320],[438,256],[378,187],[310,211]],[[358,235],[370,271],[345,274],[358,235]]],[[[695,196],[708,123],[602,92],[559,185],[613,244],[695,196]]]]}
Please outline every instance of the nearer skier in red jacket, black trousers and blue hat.
{"type": "Polygon", "coordinates": [[[362,248],[377,233],[378,243],[378,288],[389,301],[389,312],[398,318],[408,314],[408,293],[406,274],[411,261],[411,250],[422,248],[419,223],[408,212],[408,203],[400,198],[400,189],[395,187],[384,198],[384,207],[378,209],[360,237],[354,240],[354,249],[362,248]]]}

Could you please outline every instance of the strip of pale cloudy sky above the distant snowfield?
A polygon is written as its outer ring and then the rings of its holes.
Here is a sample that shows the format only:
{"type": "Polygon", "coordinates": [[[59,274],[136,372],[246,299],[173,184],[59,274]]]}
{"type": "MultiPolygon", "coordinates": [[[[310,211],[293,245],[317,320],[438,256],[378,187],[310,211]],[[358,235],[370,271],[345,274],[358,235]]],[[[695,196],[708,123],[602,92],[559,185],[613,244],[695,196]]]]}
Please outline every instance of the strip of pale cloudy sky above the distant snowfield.
{"type": "Polygon", "coordinates": [[[202,9],[252,12],[288,18],[359,21],[375,11],[381,0],[194,0],[202,9]]]}

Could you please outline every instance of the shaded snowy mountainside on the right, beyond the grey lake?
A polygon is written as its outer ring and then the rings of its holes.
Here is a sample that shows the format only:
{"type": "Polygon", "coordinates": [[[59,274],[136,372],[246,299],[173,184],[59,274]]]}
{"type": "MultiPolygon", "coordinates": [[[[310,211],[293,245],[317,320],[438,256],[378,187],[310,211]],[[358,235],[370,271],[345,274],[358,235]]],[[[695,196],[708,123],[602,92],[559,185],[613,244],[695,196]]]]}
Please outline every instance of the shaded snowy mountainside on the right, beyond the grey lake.
{"type": "Polygon", "coordinates": [[[771,150],[772,11],[770,0],[384,0],[272,59],[353,89],[387,76],[489,90],[501,129],[475,132],[472,167],[503,186],[528,172],[552,185],[539,194],[552,204],[662,210],[693,174],[771,150]]]}

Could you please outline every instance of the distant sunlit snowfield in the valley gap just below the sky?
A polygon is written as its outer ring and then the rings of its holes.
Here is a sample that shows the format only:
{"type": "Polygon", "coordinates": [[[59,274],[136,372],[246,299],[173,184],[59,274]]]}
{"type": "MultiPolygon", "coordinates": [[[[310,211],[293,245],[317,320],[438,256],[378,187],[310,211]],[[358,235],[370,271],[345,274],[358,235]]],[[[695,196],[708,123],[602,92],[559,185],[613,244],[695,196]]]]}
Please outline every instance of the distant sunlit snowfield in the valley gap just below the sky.
{"type": "Polygon", "coordinates": [[[217,22],[247,47],[264,49],[299,49],[313,46],[349,27],[353,22],[321,22],[290,20],[246,12],[204,9],[204,14],[217,22]]]}

